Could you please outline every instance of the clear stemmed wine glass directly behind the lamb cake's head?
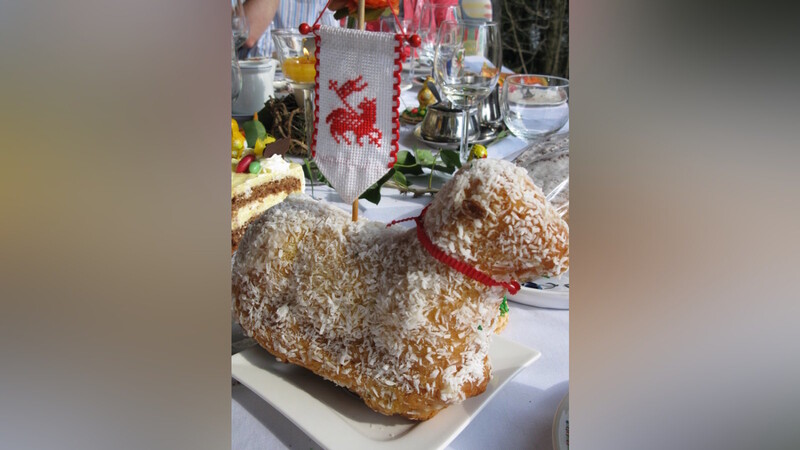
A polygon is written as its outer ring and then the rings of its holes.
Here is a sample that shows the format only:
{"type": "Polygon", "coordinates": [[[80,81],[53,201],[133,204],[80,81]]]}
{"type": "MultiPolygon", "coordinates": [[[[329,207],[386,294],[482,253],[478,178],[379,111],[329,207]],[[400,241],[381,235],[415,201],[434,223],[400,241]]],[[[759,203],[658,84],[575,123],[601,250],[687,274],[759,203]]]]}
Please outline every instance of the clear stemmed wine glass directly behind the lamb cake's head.
{"type": "Polygon", "coordinates": [[[433,58],[433,75],[442,94],[461,108],[461,161],[469,156],[469,110],[497,85],[502,67],[500,28],[496,22],[441,24],[433,58]]]}

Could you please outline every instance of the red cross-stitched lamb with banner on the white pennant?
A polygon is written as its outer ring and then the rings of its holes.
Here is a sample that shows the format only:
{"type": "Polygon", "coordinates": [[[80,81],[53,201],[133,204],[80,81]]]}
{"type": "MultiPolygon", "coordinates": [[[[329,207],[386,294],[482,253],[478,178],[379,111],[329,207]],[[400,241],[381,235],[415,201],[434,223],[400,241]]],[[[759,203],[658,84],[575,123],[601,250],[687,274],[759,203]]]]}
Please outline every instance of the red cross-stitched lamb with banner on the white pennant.
{"type": "Polygon", "coordinates": [[[353,143],[347,137],[347,132],[349,131],[353,133],[356,143],[361,147],[364,146],[364,144],[361,143],[361,139],[365,136],[369,143],[376,144],[378,147],[381,146],[380,140],[383,137],[383,133],[381,133],[381,130],[375,128],[376,99],[373,97],[361,100],[361,103],[358,104],[358,109],[361,110],[361,113],[358,113],[347,103],[347,97],[350,94],[363,91],[366,88],[367,83],[361,81],[361,75],[352,80],[345,81],[341,86],[334,80],[330,80],[328,83],[328,89],[336,92],[336,95],[344,104],[344,108],[334,109],[325,118],[325,122],[331,126],[331,137],[333,137],[333,140],[335,140],[337,144],[341,144],[341,140],[347,142],[348,145],[353,143]]]}

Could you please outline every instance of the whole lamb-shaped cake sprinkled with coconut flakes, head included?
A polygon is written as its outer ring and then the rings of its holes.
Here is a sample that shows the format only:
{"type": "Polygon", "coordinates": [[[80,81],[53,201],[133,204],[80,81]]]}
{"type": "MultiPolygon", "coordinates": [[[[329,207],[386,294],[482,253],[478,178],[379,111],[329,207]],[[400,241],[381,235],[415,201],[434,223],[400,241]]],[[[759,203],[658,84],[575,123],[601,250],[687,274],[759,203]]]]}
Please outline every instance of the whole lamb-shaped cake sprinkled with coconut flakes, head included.
{"type": "MultiPolygon", "coordinates": [[[[493,280],[568,268],[567,224],[525,169],[507,161],[464,165],[419,223],[439,252],[493,280]]],[[[353,222],[292,195],[239,244],[234,313],[279,360],[346,387],[375,411],[429,419],[486,389],[508,285],[464,275],[422,240],[416,229],[353,222]]]]}

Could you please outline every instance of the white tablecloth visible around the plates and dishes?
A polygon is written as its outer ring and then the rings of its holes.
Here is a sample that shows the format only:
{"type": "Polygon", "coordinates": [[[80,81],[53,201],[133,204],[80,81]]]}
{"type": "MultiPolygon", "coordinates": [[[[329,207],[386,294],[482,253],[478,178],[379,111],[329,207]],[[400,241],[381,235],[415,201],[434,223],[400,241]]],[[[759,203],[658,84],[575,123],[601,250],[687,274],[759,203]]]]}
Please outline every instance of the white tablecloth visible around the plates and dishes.
{"type": "MultiPolygon", "coordinates": [[[[417,89],[403,92],[401,107],[417,105],[417,89]]],[[[568,130],[568,128],[566,128],[568,130]]],[[[413,127],[403,125],[400,148],[425,148],[413,136],[413,127]]],[[[513,159],[525,142],[508,136],[489,147],[493,158],[513,159]]],[[[440,179],[439,182],[444,181],[440,179]]],[[[306,193],[312,194],[311,187],[306,193]]],[[[326,186],[314,186],[313,196],[350,211],[326,186]]],[[[431,200],[413,198],[397,190],[381,190],[381,202],[359,201],[359,217],[389,222],[417,215],[431,200]]],[[[407,223],[398,226],[410,226],[407,223]]],[[[512,379],[478,414],[450,449],[550,450],[553,417],[569,388],[569,311],[548,310],[509,302],[510,317],[502,336],[537,349],[541,358],[512,379]]],[[[241,332],[234,327],[234,344],[241,332]]],[[[234,346],[234,352],[240,350],[234,346]]],[[[317,449],[319,446],[258,395],[238,383],[231,388],[231,435],[233,449],[317,449]]]]}

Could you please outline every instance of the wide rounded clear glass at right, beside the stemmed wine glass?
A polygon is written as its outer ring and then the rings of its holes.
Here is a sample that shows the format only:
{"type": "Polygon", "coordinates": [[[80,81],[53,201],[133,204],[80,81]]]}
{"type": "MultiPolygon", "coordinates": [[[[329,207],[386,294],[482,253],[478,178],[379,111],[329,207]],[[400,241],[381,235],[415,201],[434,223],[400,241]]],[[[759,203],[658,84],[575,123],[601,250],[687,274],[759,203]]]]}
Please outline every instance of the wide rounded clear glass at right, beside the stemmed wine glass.
{"type": "Polygon", "coordinates": [[[503,121],[515,136],[533,141],[569,120],[569,80],[546,75],[509,75],[500,100],[503,121]]]}

